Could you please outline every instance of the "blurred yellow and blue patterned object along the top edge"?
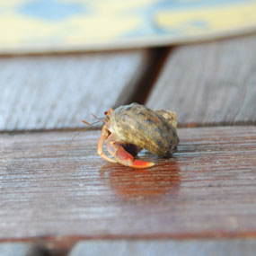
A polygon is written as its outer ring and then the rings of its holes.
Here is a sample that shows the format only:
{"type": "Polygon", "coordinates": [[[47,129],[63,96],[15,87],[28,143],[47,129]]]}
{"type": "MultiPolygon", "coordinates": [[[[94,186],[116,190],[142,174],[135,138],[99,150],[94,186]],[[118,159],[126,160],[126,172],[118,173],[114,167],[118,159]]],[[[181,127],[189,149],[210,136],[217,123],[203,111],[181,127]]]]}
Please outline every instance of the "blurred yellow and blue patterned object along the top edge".
{"type": "Polygon", "coordinates": [[[0,31],[0,53],[170,45],[256,31],[256,1],[1,1],[0,31]]]}

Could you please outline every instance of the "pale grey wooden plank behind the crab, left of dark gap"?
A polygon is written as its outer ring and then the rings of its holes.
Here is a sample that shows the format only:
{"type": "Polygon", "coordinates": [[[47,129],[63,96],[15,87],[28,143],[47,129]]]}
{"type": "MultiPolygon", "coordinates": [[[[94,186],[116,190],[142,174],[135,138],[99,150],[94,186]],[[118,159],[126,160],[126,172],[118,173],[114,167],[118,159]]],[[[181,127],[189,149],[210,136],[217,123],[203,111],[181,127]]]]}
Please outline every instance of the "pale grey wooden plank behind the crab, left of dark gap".
{"type": "Polygon", "coordinates": [[[84,127],[125,103],[150,70],[152,51],[1,57],[0,130],[84,127]]]}

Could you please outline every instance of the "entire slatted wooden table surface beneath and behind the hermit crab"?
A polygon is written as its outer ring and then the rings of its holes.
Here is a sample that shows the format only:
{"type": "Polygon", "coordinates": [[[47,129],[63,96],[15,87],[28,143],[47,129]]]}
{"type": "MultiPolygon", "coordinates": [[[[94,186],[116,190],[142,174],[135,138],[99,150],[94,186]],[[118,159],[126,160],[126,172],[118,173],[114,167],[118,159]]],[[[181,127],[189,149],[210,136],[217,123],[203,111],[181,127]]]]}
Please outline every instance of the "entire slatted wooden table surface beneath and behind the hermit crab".
{"type": "Polygon", "coordinates": [[[254,255],[255,34],[3,56],[0,92],[1,255],[254,255]],[[177,112],[171,159],[143,151],[156,165],[133,170],[98,156],[100,126],[81,119],[130,102],[177,112]]]}

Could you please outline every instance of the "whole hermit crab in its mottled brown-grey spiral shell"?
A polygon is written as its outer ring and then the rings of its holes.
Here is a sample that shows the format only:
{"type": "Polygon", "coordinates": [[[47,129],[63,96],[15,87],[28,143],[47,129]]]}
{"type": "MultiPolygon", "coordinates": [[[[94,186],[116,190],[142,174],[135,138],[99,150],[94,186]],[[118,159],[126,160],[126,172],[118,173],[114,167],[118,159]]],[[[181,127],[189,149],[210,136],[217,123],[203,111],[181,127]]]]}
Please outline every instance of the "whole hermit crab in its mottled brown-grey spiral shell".
{"type": "Polygon", "coordinates": [[[150,110],[144,105],[132,103],[110,109],[105,115],[97,152],[106,161],[132,168],[147,168],[154,163],[134,157],[143,148],[163,157],[171,157],[178,150],[177,116],[174,112],[150,110]],[[105,140],[107,150],[114,159],[103,153],[105,140]]]}

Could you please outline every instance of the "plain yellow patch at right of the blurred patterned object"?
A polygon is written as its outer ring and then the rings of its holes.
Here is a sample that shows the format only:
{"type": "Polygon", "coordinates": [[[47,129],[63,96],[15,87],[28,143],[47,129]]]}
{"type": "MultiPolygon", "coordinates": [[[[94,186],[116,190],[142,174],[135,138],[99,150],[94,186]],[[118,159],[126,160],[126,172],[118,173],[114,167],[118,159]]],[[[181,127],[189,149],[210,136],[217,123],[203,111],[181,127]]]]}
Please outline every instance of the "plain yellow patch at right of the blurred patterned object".
{"type": "Polygon", "coordinates": [[[256,3],[226,4],[221,8],[202,7],[192,10],[163,10],[155,13],[155,22],[164,30],[173,28],[186,35],[198,35],[256,28],[256,3]],[[200,26],[197,26],[197,23],[200,26]],[[206,31],[207,30],[207,31],[206,31]]]}

